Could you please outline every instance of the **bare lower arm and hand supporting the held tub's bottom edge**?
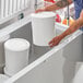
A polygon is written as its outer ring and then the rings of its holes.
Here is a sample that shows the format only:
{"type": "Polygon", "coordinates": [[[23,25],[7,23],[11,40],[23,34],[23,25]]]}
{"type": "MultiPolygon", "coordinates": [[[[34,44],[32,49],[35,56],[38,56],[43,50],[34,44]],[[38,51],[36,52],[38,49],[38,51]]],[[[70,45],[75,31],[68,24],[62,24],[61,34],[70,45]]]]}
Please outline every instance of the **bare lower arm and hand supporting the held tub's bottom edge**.
{"type": "Polygon", "coordinates": [[[61,39],[63,39],[66,36],[74,33],[75,31],[78,31],[81,26],[83,26],[83,11],[80,14],[80,17],[66,31],[63,32],[61,35],[55,37],[52,40],[49,42],[49,46],[54,47],[56,45],[58,45],[61,39]]]}

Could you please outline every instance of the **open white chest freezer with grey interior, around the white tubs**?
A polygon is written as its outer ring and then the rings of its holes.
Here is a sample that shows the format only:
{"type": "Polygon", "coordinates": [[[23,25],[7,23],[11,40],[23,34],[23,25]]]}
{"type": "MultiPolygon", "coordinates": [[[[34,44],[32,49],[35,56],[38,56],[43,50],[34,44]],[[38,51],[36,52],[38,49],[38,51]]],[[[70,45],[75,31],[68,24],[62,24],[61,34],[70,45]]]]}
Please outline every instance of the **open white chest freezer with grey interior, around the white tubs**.
{"type": "MultiPolygon", "coordinates": [[[[59,35],[68,26],[56,24],[56,27],[57,35],[59,35]]],[[[29,64],[5,83],[70,83],[72,81],[76,63],[83,59],[81,31],[68,36],[56,47],[46,49],[46,51],[42,50],[40,54],[38,52],[38,57],[37,51],[33,52],[34,45],[29,16],[0,31],[0,36],[8,34],[11,35],[11,38],[25,38],[32,46],[28,59],[29,64]]]]}

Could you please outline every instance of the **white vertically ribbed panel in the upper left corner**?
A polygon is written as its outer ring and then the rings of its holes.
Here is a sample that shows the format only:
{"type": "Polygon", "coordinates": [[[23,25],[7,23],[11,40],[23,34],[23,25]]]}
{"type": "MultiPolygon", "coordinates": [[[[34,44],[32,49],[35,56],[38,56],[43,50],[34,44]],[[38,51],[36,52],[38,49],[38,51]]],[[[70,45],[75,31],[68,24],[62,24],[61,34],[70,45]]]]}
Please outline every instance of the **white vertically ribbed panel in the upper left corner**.
{"type": "Polygon", "coordinates": [[[31,9],[31,0],[0,0],[0,24],[16,16],[27,8],[31,9]]]}

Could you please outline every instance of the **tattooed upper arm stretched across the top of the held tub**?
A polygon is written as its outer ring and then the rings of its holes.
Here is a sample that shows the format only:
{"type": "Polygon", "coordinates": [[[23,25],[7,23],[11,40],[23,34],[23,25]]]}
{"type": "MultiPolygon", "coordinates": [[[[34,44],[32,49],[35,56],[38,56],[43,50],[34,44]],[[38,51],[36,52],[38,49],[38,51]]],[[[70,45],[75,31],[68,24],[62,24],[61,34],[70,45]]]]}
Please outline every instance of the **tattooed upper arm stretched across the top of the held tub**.
{"type": "Polygon", "coordinates": [[[71,4],[71,3],[72,3],[72,0],[60,0],[57,3],[54,3],[54,4],[49,5],[49,7],[36,10],[36,13],[37,12],[43,12],[43,11],[59,10],[59,9],[62,9],[62,8],[67,7],[68,4],[71,4]]]}

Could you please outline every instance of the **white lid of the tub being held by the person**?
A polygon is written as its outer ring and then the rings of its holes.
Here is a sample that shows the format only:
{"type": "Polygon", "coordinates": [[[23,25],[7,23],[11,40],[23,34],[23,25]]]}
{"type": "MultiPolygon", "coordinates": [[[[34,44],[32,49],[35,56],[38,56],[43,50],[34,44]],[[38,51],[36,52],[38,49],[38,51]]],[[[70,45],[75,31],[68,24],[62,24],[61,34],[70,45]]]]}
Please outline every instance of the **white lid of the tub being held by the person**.
{"type": "Polygon", "coordinates": [[[54,12],[40,12],[40,13],[33,13],[32,17],[52,17],[56,16],[56,14],[54,12]]]}

